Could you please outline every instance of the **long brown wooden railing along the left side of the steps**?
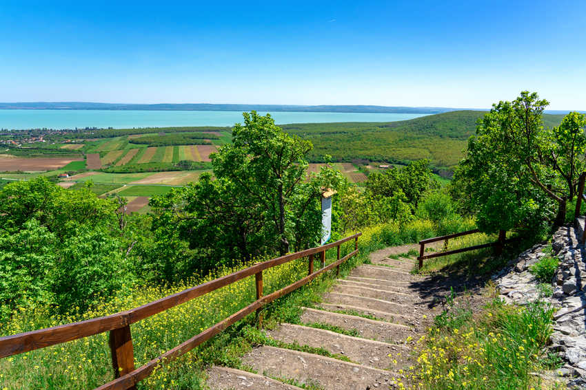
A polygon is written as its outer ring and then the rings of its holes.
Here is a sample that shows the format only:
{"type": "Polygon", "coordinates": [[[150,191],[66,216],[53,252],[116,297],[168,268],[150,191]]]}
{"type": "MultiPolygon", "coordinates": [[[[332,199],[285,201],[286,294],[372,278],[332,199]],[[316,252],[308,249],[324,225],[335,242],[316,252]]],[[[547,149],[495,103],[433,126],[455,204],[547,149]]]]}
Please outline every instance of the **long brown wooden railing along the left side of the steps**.
{"type": "Polygon", "coordinates": [[[140,307],[135,307],[134,309],[125,312],[100,318],[92,318],[91,320],[81,321],[79,323],[70,323],[59,325],[57,327],[2,337],[0,338],[0,358],[22,354],[34,349],[67,343],[68,341],[93,336],[94,334],[110,332],[109,344],[112,352],[112,366],[114,368],[115,379],[98,387],[97,390],[135,389],[136,384],[148,377],[155,367],[160,365],[163,360],[169,361],[187,353],[194,347],[209,340],[230,325],[236,323],[236,321],[241,320],[254,311],[256,311],[256,316],[260,320],[260,310],[263,305],[300,288],[302,285],[312,281],[320,274],[323,274],[323,272],[336,268],[336,272],[339,273],[341,263],[347,261],[347,259],[350,259],[350,257],[353,257],[358,253],[358,237],[361,235],[362,233],[356,233],[355,235],[336,242],[328,243],[324,246],[310,248],[292,254],[285,254],[285,256],[277,257],[276,259],[263,261],[262,263],[257,263],[249,268],[228,274],[225,277],[208,281],[193,288],[189,288],[188,290],[177,292],[176,294],[166,296],[165,298],[147,303],[140,307]],[[351,241],[352,239],[354,239],[354,250],[340,258],[341,244],[351,241]],[[325,251],[334,247],[337,248],[337,259],[333,263],[325,266],[325,251]],[[315,254],[320,255],[321,268],[314,272],[315,254]],[[287,287],[281,288],[281,290],[263,296],[263,270],[280,266],[281,264],[301,259],[303,257],[308,257],[307,277],[287,285],[287,287]],[[137,323],[150,316],[154,316],[160,312],[164,312],[165,310],[169,310],[182,303],[191,301],[192,299],[205,295],[208,292],[223,288],[246,277],[251,277],[252,275],[254,275],[256,282],[256,301],[243,307],[241,310],[232,314],[228,318],[225,318],[223,321],[205,329],[200,334],[193,336],[173,349],[170,349],[164,354],[150,360],[150,362],[145,365],[136,369],[134,368],[134,349],[132,347],[132,334],[130,333],[131,324],[137,323]]]}

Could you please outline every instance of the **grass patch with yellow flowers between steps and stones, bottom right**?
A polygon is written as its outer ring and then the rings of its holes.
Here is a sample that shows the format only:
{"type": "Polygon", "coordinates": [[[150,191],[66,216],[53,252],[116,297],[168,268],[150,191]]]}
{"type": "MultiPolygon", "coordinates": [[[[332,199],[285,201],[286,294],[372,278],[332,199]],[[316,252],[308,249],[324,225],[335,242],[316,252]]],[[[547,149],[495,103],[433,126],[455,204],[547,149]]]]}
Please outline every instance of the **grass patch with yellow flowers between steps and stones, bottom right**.
{"type": "Polygon", "coordinates": [[[545,352],[553,312],[543,303],[516,307],[500,299],[474,316],[465,309],[450,312],[418,340],[417,364],[398,387],[538,389],[542,379],[532,372],[559,367],[545,352]]]}

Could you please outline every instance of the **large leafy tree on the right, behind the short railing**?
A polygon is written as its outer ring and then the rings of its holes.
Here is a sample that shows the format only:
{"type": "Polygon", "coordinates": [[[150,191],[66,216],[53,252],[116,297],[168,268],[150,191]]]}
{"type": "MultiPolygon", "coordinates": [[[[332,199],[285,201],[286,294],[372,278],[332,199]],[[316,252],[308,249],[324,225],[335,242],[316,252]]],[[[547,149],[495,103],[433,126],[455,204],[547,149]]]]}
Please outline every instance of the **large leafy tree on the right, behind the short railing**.
{"type": "Polygon", "coordinates": [[[539,234],[552,221],[561,194],[554,170],[540,161],[547,104],[526,91],[514,102],[499,102],[470,138],[452,195],[477,212],[481,230],[539,234]]]}

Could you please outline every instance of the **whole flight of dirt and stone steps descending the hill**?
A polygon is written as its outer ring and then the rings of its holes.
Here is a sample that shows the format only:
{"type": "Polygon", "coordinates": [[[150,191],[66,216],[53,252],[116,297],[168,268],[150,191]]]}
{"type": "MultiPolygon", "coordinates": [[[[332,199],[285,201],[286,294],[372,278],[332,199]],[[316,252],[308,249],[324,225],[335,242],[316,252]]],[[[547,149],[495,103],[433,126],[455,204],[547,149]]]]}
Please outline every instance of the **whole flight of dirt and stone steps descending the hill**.
{"type": "Polygon", "coordinates": [[[284,323],[265,331],[285,345],[321,348],[334,357],[263,345],[242,358],[243,365],[256,373],[212,367],[208,386],[212,390],[300,389],[294,384],[324,390],[391,386],[402,377],[398,370],[412,365],[410,344],[441,311],[438,299],[427,294],[427,278],[410,273],[415,259],[388,257],[393,253],[394,248],[375,252],[372,264],[358,266],[346,279],[338,279],[322,303],[303,308],[301,325],[284,323]]]}

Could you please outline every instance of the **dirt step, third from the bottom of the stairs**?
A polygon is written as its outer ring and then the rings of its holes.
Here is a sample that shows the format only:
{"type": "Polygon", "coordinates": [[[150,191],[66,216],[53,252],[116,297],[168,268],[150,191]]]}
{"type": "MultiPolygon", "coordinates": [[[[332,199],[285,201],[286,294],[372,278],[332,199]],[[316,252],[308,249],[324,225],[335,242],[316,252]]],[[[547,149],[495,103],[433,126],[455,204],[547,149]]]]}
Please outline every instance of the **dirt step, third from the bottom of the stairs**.
{"type": "Polygon", "coordinates": [[[287,323],[267,331],[266,334],[274,340],[287,344],[323,348],[331,354],[346,356],[352,362],[378,369],[390,368],[389,354],[405,351],[407,347],[287,323]]]}

